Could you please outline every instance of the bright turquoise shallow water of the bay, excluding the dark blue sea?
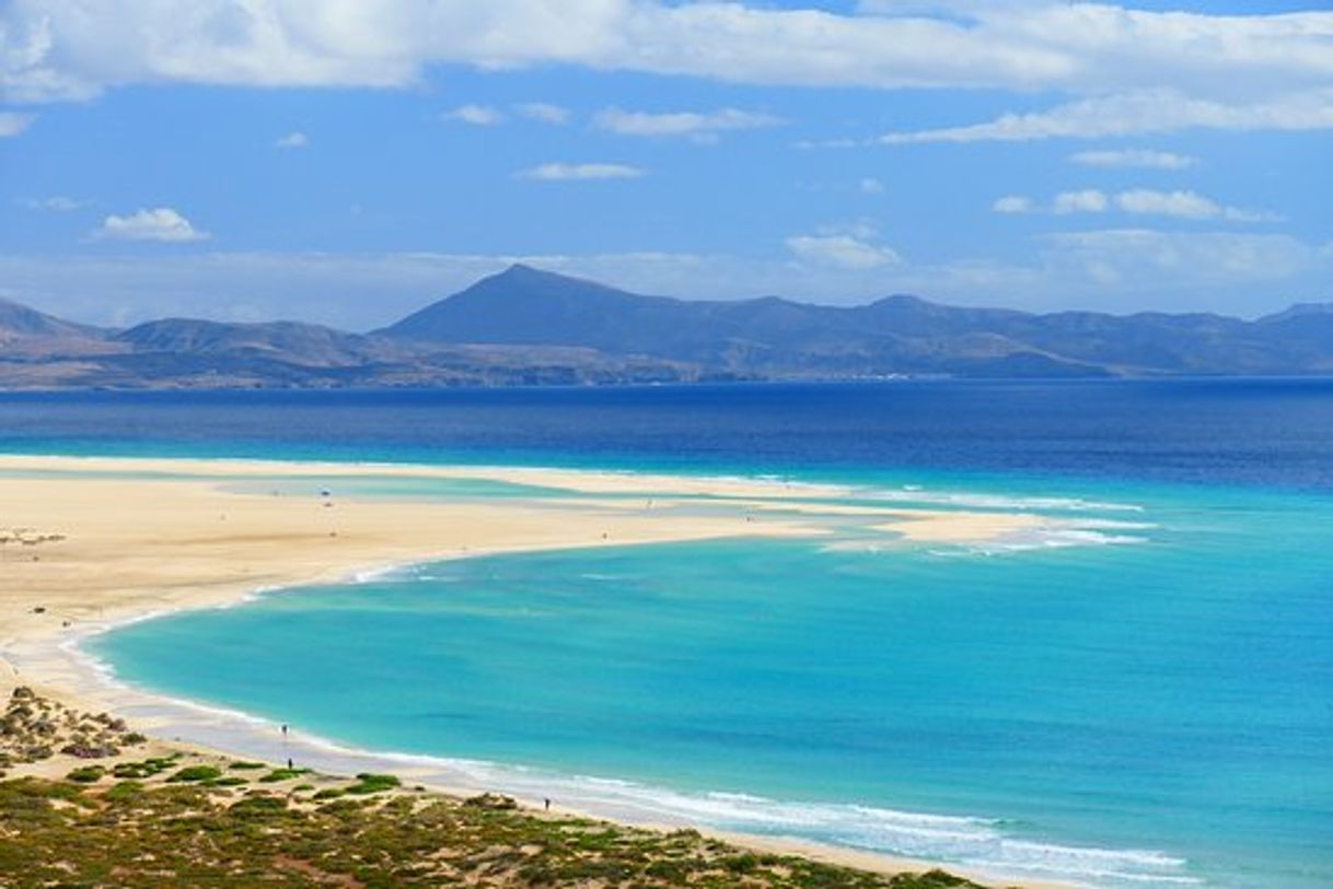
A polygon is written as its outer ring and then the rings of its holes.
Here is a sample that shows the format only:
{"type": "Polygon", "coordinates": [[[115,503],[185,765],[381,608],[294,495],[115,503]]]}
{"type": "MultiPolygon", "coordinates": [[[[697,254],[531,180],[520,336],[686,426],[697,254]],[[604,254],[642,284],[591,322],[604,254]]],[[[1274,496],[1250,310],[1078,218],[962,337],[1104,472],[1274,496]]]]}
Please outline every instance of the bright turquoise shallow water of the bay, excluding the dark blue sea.
{"type": "Polygon", "coordinates": [[[499,784],[573,806],[1010,878],[1333,886],[1333,500],[938,469],[806,477],[845,484],[840,502],[1069,524],[960,546],[841,518],[818,538],[411,565],[85,648],[136,686],[303,737],[495,764],[499,784]]]}

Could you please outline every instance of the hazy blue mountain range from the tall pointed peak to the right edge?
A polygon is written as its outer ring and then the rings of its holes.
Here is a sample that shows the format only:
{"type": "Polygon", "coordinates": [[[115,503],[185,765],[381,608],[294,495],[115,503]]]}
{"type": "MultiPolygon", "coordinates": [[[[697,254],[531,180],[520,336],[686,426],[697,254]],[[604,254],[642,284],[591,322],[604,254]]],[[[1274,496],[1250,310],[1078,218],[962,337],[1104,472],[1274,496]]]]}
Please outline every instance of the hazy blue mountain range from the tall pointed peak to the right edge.
{"type": "Polygon", "coordinates": [[[686,301],[515,265],[380,333],[583,345],[736,376],[1144,376],[1324,373],[1333,369],[1333,337],[1318,332],[1325,324],[1333,327],[1333,312],[1313,307],[1249,323],[1152,312],[1032,315],[901,295],[852,308],[776,297],[686,301]]]}

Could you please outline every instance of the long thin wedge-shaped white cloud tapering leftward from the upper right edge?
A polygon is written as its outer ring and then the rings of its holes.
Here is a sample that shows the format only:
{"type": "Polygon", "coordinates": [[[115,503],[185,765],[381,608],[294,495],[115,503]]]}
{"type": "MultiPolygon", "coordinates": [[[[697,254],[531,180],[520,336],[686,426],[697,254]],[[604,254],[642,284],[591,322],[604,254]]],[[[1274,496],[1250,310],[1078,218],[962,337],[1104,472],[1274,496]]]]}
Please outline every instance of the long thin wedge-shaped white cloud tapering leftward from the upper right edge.
{"type": "MultiPolygon", "coordinates": [[[[1329,53],[1333,57],[1333,52],[1329,53]]],[[[1285,93],[1258,101],[1198,99],[1178,89],[1141,89],[1056,105],[1049,111],[1004,115],[984,124],[886,133],[885,145],[910,143],[1029,141],[1101,139],[1182,129],[1333,128],[1333,89],[1285,93]]]]}

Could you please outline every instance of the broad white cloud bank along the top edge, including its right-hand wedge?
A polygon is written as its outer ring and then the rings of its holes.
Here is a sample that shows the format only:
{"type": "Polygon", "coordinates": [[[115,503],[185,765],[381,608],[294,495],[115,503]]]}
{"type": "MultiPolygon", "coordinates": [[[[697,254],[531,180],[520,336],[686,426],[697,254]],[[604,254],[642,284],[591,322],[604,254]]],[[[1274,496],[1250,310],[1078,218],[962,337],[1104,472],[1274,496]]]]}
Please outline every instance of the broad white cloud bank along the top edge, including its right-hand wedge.
{"type": "Polygon", "coordinates": [[[88,9],[5,4],[4,97],[87,99],[155,83],[411,87],[436,64],[572,64],[764,85],[1074,97],[1044,112],[890,133],[890,143],[1333,127],[1325,11],[1224,16],[1054,0],[868,0],[852,13],[753,0],[121,0],[113,15],[88,9]]]}

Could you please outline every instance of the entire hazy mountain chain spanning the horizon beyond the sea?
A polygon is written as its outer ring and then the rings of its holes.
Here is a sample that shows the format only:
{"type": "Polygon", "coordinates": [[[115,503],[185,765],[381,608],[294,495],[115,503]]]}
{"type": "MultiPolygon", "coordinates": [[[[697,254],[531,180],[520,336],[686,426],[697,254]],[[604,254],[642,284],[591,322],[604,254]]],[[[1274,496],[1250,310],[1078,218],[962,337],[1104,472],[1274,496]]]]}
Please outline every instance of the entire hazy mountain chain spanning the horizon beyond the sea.
{"type": "Polygon", "coordinates": [[[0,389],[375,388],[1333,372],[1333,304],[1033,315],[913,296],[829,307],[641,296],[527,265],[357,335],[315,324],[75,324],[0,300],[0,389]]]}

